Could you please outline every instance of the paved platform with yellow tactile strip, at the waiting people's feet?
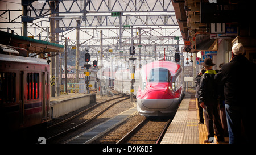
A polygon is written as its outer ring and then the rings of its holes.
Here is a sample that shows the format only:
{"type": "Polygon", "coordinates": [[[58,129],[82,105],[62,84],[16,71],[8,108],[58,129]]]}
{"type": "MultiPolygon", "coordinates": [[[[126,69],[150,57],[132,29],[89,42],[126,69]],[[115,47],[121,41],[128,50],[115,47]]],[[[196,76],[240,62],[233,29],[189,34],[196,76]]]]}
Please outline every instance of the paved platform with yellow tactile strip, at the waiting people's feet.
{"type": "MultiPolygon", "coordinates": [[[[161,144],[214,144],[204,143],[207,139],[207,128],[199,123],[199,112],[195,92],[185,92],[185,96],[180,103],[174,119],[169,125],[161,144]]],[[[225,143],[228,144],[229,138],[225,137],[225,143]]]]}

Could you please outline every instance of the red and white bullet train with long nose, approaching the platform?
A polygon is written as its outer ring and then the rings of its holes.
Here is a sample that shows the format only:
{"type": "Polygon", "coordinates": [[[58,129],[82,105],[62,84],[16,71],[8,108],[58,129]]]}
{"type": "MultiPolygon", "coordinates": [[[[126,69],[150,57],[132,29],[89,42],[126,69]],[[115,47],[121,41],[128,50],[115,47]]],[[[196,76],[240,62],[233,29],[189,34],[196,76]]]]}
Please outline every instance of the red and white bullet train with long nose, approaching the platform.
{"type": "MultiPolygon", "coordinates": [[[[135,70],[137,110],[144,116],[175,115],[183,97],[182,68],[170,61],[154,61],[135,70]]],[[[130,94],[129,70],[115,74],[114,90],[130,94]]]]}

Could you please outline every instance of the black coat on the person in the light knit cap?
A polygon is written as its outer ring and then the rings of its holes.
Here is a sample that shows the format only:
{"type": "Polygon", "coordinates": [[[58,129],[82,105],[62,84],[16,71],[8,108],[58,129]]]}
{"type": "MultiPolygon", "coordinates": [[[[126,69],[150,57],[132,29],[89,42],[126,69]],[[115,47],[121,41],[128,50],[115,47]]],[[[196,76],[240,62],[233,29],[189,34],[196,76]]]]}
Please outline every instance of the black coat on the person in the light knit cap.
{"type": "Polygon", "coordinates": [[[214,81],[224,85],[225,104],[246,106],[255,98],[255,64],[244,56],[224,64],[214,81]]]}

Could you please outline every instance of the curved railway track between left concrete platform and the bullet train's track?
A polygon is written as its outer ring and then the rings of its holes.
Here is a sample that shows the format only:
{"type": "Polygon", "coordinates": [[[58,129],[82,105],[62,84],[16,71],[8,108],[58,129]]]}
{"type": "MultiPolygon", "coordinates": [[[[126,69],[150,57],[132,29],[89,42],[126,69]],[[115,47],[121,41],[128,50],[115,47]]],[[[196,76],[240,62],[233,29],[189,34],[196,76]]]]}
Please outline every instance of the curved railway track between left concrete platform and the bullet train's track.
{"type": "Polygon", "coordinates": [[[64,135],[67,135],[67,133],[76,131],[77,129],[84,127],[85,124],[88,124],[89,122],[92,122],[92,120],[96,119],[98,116],[100,116],[102,113],[104,113],[106,110],[114,106],[114,104],[120,103],[124,100],[129,99],[129,97],[120,99],[122,97],[114,98],[105,100],[104,102],[97,103],[92,107],[89,107],[88,109],[79,112],[78,114],[72,116],[71,118],[65,119],[59,123],[53,124],[48,127],[48,130],[56,130],[53,131],[53,133],[48,136],[46,139],[47,141],[54,141],[58,137],[62,137],[64,135]],[[79,123],[73,123],[75,122],[75,119],[79,119],[79,123]],[[67,125],[68,124],[68,125],[67,125]],[[65,126],[72,126],[66,128],[65,126]]]}

